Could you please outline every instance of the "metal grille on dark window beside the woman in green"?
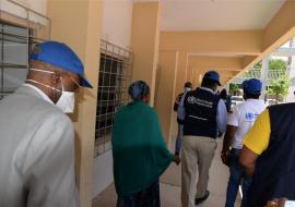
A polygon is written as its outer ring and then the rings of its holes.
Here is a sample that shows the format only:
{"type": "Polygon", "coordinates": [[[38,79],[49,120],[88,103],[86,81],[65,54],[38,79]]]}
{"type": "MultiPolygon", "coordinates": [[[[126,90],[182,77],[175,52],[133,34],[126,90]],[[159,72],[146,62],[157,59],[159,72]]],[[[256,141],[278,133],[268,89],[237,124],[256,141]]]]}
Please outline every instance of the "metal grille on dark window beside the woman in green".
{"type": "Polygon", "coordinates": [[[102,40],[99,81],[97,90],[95,156],[110,149],[114,117],[129,101],[133,53],[102,40]]]}

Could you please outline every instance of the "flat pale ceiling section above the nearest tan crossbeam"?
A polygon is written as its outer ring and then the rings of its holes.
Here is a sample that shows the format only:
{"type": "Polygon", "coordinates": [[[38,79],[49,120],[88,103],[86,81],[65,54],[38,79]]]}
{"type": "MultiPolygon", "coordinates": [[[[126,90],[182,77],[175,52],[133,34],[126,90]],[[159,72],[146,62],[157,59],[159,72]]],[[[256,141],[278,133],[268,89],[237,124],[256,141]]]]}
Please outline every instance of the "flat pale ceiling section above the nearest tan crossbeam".
{"type": "Polygon", "coordinates": [[[267,26],[285,0],[162,0],[162,31],[240,31],[267,26]]]}

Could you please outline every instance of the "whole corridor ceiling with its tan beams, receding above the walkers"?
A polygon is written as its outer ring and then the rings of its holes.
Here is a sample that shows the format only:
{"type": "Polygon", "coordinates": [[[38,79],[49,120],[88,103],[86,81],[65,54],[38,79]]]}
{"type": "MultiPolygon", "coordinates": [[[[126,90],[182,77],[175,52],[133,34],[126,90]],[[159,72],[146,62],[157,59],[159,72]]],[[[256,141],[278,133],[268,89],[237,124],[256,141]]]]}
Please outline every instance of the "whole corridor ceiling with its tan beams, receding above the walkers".
{"type": "Polygon", "coordinates": [[[205,71],[216,70],[225,84],[294,37],[294,0],[160,3],[160,50],[187,52],[188,75],[196,83],[205,71]]]}

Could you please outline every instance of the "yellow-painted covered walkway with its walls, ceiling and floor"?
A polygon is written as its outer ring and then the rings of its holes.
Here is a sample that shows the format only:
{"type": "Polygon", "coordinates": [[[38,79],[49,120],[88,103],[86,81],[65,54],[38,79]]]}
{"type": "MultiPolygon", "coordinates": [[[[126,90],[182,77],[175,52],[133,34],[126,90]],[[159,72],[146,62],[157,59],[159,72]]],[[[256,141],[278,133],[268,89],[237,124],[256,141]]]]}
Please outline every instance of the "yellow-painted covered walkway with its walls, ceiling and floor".
{"type": "MultiPolygon", "coordinates": [[[[7,92],[13,80],[15,88],[24,82],[34,39],[66,42],[79,54],[94,86],[80,90],[71,115],[80,205],[91,207],[94,198],[94,206],[115,207],[109,137],[116,111],[127,104],[130,82],[150,85],[150,105],[172,146],[173,105],[184,83],[198,87],[203,74],[215,70],[226,87],[295,37],[294,11],[294,0],[0,0],[0,22],[13,26],[2,26],[0,90],[7,92]],[[25,31],[24,44],[4,40],[17,35],[15,27],[25,31]],[[10,75],[13,78],[7,80],[10,75]]],[[[221,163],[219,143],[211,195],[202,206],[224,206],[228,169],[221,163]]],[[[162,206],[180,207],[180,167],[172,165],[163,175],[162,206]]]]}

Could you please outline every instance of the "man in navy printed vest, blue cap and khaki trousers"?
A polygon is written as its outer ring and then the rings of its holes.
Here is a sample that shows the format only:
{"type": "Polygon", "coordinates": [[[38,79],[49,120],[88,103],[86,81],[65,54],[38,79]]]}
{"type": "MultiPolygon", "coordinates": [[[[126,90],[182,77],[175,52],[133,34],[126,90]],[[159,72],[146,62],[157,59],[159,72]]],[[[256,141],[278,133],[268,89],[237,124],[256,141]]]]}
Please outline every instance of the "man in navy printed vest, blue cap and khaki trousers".
{"type": "Polygon", "coordinates": [[[184,102],[179,104],[179,109],[185,113],[181,157],[182,207],[194,207],[209,196],[206,187],[209,169],[217,146],[215,138],[219,132],[225,132],[227,121],[225,104],[215,94],[220,85],[220,74],[209,71],[203,76],[201,87],[188,92],[184,102]]]}

